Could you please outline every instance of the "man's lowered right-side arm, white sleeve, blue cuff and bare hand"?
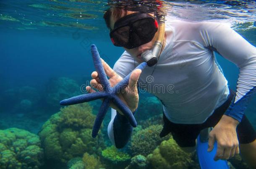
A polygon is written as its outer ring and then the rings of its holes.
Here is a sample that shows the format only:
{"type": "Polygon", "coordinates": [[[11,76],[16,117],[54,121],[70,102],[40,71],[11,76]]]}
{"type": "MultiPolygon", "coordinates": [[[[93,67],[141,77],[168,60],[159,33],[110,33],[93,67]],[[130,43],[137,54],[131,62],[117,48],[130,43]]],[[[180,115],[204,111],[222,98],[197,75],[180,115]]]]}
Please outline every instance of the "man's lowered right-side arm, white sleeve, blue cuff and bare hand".
{"type": "Polygon", "coordinates": [[[211,47],[240,70],[235,100],[209,134],[209,148],[218,142],[214,160],[229,159],[239,153],[236,127],[256,86],[256,48],[227,25],[204,23],[200,29],[204,46],[211,47]],[[240,109],[239,109],[240,107],[240,109]],[[241,108],[243,107],[243,108],[241,108]]]}

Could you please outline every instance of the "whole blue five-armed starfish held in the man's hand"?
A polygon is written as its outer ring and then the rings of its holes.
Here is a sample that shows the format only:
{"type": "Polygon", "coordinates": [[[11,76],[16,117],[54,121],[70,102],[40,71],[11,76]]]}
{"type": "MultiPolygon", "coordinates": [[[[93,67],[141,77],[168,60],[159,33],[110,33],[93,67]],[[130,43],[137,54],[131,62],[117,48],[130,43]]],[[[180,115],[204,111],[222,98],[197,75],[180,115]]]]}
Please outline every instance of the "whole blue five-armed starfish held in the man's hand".
{"type": "MultiPolygon", "coordinates": [[[[78,104],[78,103],[97,100],[99,98],[104,98],[102,105],[100,106],[99,113],[97,114],[97,117],[94,121],[94,126],[91,134],[93,138],[95,138],[99,132],[100,126],[102,124],[105,114],[107,113],[107,109],[109,108],[111,101],[113,101],[113,103],[115,103],[115,105],[120,109],[120,111],[122,111],[124,116],[129,120],[131,126],[136,127],[137,122],[131,110],[120,100],[120,98],[118,98],[118,96],[116,96],[116,94],[119,91],[122,91],[122,89],[128,85],[131,73],[128,74],[125,78],[123,78],[123,80],[120,81],[117,85],[115,85],[114,87],[111,87],[107,79],[107,75],[102,66],[99,52],[95,45],[91,45],[91,53],[92,53],[95,69],[98,72],[99,81],[103,86],[103,91],[98,91],[95,93],[88,93],[88,94],[83,94],[83,95],[75,96],[72,98],[68,98],[63,101],[60,101],[60,105],[72,105],[72,104],[78,104]]],[[[146,67],[146,63],[143,62],[140,65],[138,65],[135,69],[143,70],[145,67],[146,67]]]]}

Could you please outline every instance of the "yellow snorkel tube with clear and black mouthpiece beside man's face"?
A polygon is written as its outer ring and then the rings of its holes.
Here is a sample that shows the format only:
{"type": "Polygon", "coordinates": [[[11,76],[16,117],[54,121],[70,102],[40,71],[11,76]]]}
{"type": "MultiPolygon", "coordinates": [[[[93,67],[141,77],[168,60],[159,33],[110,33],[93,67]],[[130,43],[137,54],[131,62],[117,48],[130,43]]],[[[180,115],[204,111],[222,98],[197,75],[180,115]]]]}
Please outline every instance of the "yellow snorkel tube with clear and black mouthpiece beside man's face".
{"type": "Polygon", "coordinates": [[[159,58],[165,38],[165,15],[161,15],[158,23],[157,39],[150,50],[141,53],[141,57],[148,66],[154,66],[159,58]]]}

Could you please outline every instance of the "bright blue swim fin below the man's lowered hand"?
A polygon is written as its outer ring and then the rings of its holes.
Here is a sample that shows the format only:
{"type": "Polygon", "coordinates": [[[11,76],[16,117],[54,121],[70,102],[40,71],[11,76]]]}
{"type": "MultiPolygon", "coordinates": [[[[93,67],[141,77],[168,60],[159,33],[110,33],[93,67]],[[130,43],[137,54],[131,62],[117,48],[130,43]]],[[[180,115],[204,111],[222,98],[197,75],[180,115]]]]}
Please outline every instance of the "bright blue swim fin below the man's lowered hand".
{"type": "Polygon", "coordinates": [[[201,169],[229,169],[229,166],[227,165],[227,160],[213,160],[214,155],[217,151],[216,141],[214,143],[214,149],[211,152],[208,152],[207,149],[208,141],[201,141],[199,134],[199,136],[197,137],[196,151],[201,169]]]}

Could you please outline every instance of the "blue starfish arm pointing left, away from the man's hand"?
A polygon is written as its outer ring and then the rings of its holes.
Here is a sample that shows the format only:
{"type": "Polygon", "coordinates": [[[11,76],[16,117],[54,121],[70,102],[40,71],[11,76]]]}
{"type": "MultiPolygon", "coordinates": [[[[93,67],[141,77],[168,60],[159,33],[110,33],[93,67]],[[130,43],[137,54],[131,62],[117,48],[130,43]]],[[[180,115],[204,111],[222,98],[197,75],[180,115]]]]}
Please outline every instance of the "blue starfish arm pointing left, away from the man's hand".
{"type": "Polygon", "coordinates": [[[74,96],[74,97],[62,100],[60,101],[60,105],[66,106],[66,105],[84,103],[84,102],[93,101],[99,98],[104,98],[106,96],[107,96],[107,93],[105,92],[82,94],[79,96],[74,96]]]}

